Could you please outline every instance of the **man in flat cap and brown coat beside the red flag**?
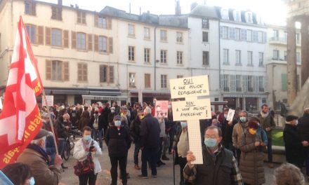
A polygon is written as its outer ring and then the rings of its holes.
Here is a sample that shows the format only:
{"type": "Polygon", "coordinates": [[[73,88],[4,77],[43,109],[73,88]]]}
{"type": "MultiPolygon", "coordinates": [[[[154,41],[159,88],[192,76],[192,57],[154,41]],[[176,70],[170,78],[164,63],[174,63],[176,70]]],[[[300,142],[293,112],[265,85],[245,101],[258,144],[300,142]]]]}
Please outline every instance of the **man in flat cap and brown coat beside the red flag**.
{"type": "Polygon", "coordinates": [[[61,179],[63,160],[56,155],[54,165],[48,166],[49,161],[45,150],[47,135],[49,132],[41,129],[27,149],[18,156],[16,162],[30,166],[35,184],[57,185],[61,179]]]}

